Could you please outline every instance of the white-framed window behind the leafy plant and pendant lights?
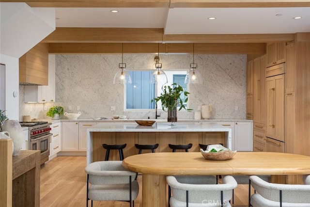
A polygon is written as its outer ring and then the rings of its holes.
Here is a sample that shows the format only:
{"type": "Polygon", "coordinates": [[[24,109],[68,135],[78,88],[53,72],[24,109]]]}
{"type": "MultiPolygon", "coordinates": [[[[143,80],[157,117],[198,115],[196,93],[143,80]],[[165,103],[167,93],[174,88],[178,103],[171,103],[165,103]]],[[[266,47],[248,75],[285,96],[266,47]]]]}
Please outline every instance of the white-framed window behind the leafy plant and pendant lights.
{"type": "MultiPolygon", "coordinates": [[[[150,77],[153,70],[132,70],[128,71],[131,76],[132,83],[125,85],[125,110],[146,110],[155,109],[155,102],[151,100],[160,95],[161,85],[150,83],[150,77]]],[[[187,85],[184,83],[186,70],[170,70],[165,73],[168,78],[168,85],[177,83],[187,91],[187,85]]],[[[185,98],[182,97],[184,100],[185,98]]],[[[185,104],[186,105],[186,104],[185,104]]],[[[158,103],[158,109],[161,108],[158,103]]]]}

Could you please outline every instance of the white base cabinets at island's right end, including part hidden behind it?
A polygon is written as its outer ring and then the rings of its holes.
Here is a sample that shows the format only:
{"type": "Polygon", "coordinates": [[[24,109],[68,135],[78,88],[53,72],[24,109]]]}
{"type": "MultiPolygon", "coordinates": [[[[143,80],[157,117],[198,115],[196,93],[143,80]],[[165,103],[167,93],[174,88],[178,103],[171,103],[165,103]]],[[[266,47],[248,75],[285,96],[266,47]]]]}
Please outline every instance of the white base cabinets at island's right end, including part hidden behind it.
{"type": "Polygon", "coordinates": [[[252,151],[252,122],[217,122],[232,129],[232,150],[252,151]]]}

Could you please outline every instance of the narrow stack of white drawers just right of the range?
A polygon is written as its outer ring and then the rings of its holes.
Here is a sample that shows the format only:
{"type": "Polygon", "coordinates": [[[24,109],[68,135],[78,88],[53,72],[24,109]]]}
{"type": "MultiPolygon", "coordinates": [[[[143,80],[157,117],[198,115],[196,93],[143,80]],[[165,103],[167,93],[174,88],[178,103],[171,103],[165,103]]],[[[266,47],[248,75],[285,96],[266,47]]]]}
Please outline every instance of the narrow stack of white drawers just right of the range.
{"type": "Polygon", "coordinates": [[[55,123],[51,126],[51,133],[53,134],[49,143],[49,159],[53,159],[57,156],[57,153],[61,151],[62,140],[62,125],[61,123],[55,123]]]}

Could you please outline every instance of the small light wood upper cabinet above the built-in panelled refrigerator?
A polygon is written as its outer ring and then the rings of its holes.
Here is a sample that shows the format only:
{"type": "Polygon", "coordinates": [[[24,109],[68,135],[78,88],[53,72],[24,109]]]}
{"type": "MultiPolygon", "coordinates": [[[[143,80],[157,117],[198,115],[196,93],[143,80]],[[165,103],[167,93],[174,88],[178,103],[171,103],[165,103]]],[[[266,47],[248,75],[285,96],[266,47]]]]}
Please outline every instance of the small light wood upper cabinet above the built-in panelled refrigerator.
{"type": "Polygon", "coordinates": [[[270,67],[276,64],[285,63],[286,43],[267,43],[267,59],[266,66],[270,67]]]}

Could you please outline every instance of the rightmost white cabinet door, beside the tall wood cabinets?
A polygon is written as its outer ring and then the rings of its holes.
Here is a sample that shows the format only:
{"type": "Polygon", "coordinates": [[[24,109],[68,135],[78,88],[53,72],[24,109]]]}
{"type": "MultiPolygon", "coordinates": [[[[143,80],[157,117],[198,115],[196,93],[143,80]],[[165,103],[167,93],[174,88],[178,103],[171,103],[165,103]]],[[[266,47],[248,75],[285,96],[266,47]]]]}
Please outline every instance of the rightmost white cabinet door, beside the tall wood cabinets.
{"type": "Polygon", "coordinates": [[[235,122],[234,150],[252,151],[252,122],[235,122]]]}

